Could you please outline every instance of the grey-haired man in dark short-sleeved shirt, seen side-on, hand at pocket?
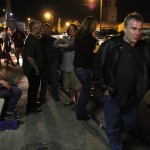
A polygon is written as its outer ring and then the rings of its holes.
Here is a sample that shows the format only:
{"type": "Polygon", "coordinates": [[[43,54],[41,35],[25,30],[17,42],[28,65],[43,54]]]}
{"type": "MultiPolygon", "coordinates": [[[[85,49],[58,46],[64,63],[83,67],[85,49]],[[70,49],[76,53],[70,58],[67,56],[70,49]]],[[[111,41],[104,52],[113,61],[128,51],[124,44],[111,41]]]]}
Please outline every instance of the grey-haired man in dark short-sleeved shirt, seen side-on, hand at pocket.
{"type": "Polygon", "coordinates": [[[29,88],[27,99],[27,112],[39,113],[37,95],[40,85],[40,72],[43,67],[41,44],[37,36],[41,33],[41,23],[33,20],[29,24],[30,34],[27,36],[23,50],[23,71],[27,76],[29,88]]]}

